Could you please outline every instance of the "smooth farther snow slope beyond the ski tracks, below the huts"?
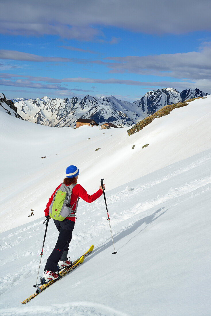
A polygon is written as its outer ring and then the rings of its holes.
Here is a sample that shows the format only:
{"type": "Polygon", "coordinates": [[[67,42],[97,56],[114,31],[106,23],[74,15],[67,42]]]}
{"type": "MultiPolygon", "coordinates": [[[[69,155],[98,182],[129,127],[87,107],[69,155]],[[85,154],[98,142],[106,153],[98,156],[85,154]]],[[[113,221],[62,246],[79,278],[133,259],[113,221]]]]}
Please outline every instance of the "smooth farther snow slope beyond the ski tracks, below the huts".
{"type": "Polygon", "coordinates": [[[69,164],[79,167],[80,183],[94,192],[102,177],[112,189],[211,148],[210,101],[211,96],[194,100],[131,136],[125,128],[59,129],[2,115],[1,231],[32,220],[28,218],[31,208],[33,220],[42,216],[69,164]]]}

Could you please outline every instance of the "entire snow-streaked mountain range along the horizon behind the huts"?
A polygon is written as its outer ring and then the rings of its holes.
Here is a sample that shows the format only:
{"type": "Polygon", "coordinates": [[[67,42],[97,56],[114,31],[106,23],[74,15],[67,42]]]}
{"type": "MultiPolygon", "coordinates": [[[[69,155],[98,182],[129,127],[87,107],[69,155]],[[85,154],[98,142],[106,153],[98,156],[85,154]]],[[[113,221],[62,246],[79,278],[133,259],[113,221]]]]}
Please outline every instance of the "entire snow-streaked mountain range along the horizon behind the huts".
{"type": "Polygon", "coordinates": [[[139,122],[165,105],[207,95],[199,89],[177,91],[162,88],[147,92],[140,100],[127,102],[113,95],[83,99],[51,99],[47,96],[33,99],[13,99],[18,113],[26,120],[47,126],[75,126],[77,119],[93,119],[98,124],[110,122],[127,126],[139,122]]]}

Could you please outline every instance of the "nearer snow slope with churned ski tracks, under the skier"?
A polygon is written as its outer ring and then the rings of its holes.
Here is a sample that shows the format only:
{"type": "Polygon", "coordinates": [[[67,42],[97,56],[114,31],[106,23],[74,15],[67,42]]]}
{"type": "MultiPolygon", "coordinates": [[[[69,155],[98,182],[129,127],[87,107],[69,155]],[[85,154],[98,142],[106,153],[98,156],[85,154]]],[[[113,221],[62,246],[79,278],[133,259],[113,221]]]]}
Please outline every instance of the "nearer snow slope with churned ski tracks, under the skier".
{"type": "MultiPolygon", "coordinates": [[[[207,150],[107,191],[115,255],[103,197],[82,202],[70,255],[94,252],[27,305],[43,219],[2,233],[1,315],[209,315],[210,180],[207,150]]],[[[41,269],[57,236],[51,220],[41,269]]]]}

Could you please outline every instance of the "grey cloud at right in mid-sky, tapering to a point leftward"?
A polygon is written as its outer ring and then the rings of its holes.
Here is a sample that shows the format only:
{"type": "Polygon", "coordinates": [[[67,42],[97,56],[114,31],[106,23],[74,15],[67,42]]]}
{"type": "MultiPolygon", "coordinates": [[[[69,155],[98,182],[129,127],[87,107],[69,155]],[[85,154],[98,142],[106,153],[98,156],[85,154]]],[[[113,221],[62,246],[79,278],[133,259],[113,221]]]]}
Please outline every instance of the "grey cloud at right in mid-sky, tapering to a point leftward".
{"type": "Polygon", "coordinates": [[[211,79],[211,46],[204,46],[199,52],[107,57],[92,63],[105,65],[110,73],[128,72],[189,80],[211,79]]]}

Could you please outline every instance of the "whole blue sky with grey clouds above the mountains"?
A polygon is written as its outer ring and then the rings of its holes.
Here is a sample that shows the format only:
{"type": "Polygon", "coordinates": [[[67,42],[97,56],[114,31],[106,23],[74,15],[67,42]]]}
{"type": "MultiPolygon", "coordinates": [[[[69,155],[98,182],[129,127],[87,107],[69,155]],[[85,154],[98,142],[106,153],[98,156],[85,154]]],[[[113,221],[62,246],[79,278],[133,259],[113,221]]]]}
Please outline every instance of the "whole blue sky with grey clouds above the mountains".
{"type": "Polygon", "coordinates": [[[8,98],[114,95],[172,87],[211,93],[211,2],[0,3],[0,92],[8,98]]]}

